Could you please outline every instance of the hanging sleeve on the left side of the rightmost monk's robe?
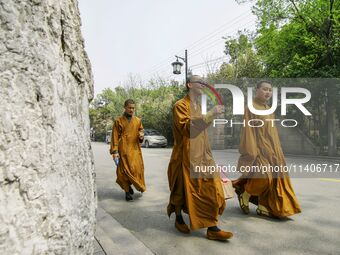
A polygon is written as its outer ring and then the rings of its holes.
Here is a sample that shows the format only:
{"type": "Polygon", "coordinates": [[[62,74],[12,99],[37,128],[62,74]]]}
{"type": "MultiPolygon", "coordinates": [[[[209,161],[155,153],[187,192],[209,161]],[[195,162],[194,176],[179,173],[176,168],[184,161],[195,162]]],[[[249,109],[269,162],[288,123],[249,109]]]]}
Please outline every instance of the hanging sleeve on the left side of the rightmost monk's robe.
{"type": "Polygon", "coordinates": [[[258,156],[256,128],[252,128],[248,125],[248,120],[251,118],[252,114],[250,113],[249,109],[246,108],[244,113],[245,127],[243,127],[241,132],[239,147],[241,156],[238,160],[238,170],[241,170],[241,166],[252,166],[258,156]]]}

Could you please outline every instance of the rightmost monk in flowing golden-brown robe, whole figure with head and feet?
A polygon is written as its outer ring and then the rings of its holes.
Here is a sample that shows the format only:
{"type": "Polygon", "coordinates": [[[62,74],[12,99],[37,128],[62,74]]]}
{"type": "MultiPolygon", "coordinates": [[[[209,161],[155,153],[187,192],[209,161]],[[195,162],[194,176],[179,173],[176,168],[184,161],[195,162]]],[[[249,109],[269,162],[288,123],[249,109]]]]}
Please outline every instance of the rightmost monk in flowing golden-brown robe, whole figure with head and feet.
{"type": "MultiPolygon", "coordinates": [[[[272,97],[272,85],[270,82],[261,81],[256,87],[256,96],[253,106],[257,110],[269,109],[268,100],[272,97]]],[[[233,186],[238,195],[239,204],[245,214],[249,214],[249,202],[258,205],[258,215],[273,218],[284,218],[300,213],[300,205],[296,199],[290,178],[283,171],[286,166],[285,157],[282,152],[279,136],[275,123],[265,121],[275,119],[274,114],[255,115],[249,108],[245,110],[245,127],[241,133],[238,160],[238,170],[242,176],[233,181],[233,186]],[[249,120],[263,120],[262,123],[249,120]],[[249,171],[249,167],[255,166],[256,171],[249,171]],[[262,166],[278,167],[280,171],[258,171],[262,166]],[[248,167],[248,171],[246,170],[248,167]]],[[[253,168],[255,169],[255,168],[253,168]]],[[[262,168],[263,169],[263,168],[262,168]]]]}

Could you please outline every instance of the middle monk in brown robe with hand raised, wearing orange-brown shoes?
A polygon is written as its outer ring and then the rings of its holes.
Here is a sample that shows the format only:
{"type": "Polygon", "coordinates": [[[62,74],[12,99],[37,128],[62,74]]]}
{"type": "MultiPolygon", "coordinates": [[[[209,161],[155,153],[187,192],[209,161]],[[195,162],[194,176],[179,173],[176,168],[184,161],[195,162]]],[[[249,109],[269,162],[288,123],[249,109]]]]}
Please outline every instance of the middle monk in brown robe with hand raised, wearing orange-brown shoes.
{"type": "Polygon", "coordinates": [[[190,228],[208,228],[207,237],[211,240],[226,240],[233,236],[217,227],[218,215],[225,208],[225,200],[220,177],[195,177],[190,171],[195,165],[215,165],[212,157],[207,127],[214,116],[223,112],[217,106],[202,116],[200,95],[205,82],[197,75],[190,77],[188,94],[175,103],[173,108],[174,147],[168,167],[170,201],[168,216],[175,212],[175,227],[182,233],[189,233],[181,211],[189,214],[190,228]]]}

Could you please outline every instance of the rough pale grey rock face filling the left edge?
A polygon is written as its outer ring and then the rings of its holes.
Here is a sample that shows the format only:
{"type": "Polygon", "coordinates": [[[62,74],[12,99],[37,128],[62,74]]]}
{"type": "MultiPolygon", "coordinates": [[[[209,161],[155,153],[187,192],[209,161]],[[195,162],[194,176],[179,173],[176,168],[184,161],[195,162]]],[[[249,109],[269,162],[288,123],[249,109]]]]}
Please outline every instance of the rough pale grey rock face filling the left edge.
{"type": "Polygon", "coordinates": [[[0,254],[91,254],[93,79],[76,0],[0,0],[0,254]]]}

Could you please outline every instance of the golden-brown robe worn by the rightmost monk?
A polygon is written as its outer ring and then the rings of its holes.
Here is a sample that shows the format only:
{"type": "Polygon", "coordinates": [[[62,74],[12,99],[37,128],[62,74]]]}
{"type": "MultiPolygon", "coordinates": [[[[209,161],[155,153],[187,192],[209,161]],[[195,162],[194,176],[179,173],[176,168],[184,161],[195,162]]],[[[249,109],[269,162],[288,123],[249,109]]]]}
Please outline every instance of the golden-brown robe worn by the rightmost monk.
{"type": "MultiPolygon", "coordinates": [[[[257,110],[269,109],[268,105],[255,99],[254,108],[257,110]]],[[[271,121],[275,119],[274,114],[255,115],[247,108],[244,115],[245,127],[241,133],[238,161],[238,169],[242,172],[241,166],[286,166],[282,152],[277,129],[272,127],[271,121]],[[250,119],[264,121],[262,127],[250,127],[247,123],[250,119]]],[[[259,125],[251,122],[251,125],[259,125]]],[[[270,213],[278,217],[290,216],[301,212],[300,205],[295,196],[288,173],[243,173],[242,177],[235,181],[235,188],[246,190],[251,194],[252,200],[265,206],[270,213]],[[260,177],[260,178],[256,178],[260,177]]]]}

